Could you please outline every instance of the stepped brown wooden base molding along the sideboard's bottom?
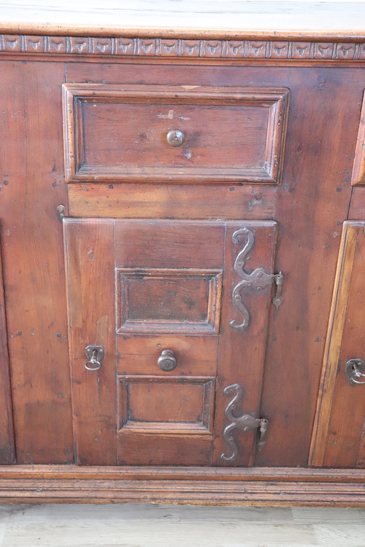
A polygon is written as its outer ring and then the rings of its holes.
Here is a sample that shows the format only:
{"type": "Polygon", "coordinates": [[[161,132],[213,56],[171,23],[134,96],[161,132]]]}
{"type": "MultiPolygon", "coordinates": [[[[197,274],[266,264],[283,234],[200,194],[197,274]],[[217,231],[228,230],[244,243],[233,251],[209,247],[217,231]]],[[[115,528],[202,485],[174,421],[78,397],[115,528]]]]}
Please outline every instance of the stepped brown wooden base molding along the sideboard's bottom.
{"type": "Polygon", "coordinates": [[[365,507],[365,469],[3,465],[0,501],[365,507]]]}

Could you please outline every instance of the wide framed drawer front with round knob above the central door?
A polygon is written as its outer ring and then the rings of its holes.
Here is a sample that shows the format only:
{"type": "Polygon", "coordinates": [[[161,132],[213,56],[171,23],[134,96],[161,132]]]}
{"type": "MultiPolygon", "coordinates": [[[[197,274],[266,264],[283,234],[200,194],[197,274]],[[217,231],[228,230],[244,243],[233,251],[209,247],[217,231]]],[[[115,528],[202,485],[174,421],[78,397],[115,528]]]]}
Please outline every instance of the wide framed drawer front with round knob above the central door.
{"type": "Polygon", "coordinates": [[[64,84],[67,181],[277,183],[288,93],[64,84]]]}

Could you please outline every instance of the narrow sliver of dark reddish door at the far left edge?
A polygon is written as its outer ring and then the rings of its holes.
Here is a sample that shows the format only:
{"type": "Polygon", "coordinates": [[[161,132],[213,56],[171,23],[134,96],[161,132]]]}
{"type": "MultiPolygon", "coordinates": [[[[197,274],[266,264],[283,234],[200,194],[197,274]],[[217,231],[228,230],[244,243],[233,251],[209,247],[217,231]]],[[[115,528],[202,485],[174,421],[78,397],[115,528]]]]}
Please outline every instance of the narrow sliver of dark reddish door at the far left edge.
{"type": "Polygon", "coordinates": [[[13,426],[13,408],[11,405],[10,369],[8,353],[7,323],[5,318],[5,300],[3,269],[0,246],[0,462],[15,463],[15,441],[13,426]]]}

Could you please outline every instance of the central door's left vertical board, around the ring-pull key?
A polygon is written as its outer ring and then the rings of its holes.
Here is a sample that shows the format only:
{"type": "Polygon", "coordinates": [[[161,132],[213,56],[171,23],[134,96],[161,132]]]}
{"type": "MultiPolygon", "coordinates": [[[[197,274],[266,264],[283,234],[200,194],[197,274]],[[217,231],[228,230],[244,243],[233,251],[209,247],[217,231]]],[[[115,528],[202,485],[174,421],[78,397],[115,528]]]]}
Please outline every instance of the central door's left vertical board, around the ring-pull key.
{"type": "Polygon", "coordinates": [[[117,463],[114,221],[64,219],[76,461],[117,463]],[[103,346],[100,370],[85,347],[103,346]]]}

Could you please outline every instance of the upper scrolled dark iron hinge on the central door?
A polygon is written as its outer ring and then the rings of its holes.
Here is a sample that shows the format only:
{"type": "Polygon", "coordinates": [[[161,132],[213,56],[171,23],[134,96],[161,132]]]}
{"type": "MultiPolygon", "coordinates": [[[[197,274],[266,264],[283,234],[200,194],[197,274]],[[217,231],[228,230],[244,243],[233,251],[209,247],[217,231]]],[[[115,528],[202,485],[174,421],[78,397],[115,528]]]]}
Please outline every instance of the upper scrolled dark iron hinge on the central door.
{"type": "Polygon", "coordinates": [[[235,319],[232,319],[229,322],[229,324],[234,329],[245,330],[250,324],[250,313],[248,312],[245,304],[242,302],[241,290],[244,287],[251,287],[253,290],[262,290],[268,285],[276,283],[276,293],[272,302],[277,311],[279,310],[279,307],[281,306],[283,302],[281,289],[282,289],[284,276],[282,272],[279,272],[279,274],[266,274],[263,268],[256,268],[256,270],[253,270],[251,274],[247,274],[247,272],[245,272],[244,270],[245,259],[253,247],[254,235],[251,232],[251,230],[248,230],[248,228],[240,228],[239,230],[236,230],[234,232],[232,236],[232,240],[234,243],[240,243],[241,238],[245,238],[246,243],[242,251],[240,251],[237,254],[237,257],[234,263],[234,269],[236,273],[241,277],[242,281],[237,283],[235,288],[233,289],[232,301],[235,307],[237,308],[237,310],[239,310],[244,316],[244,321],[242,321],[242,323],[237,324],[235,319]]]}

